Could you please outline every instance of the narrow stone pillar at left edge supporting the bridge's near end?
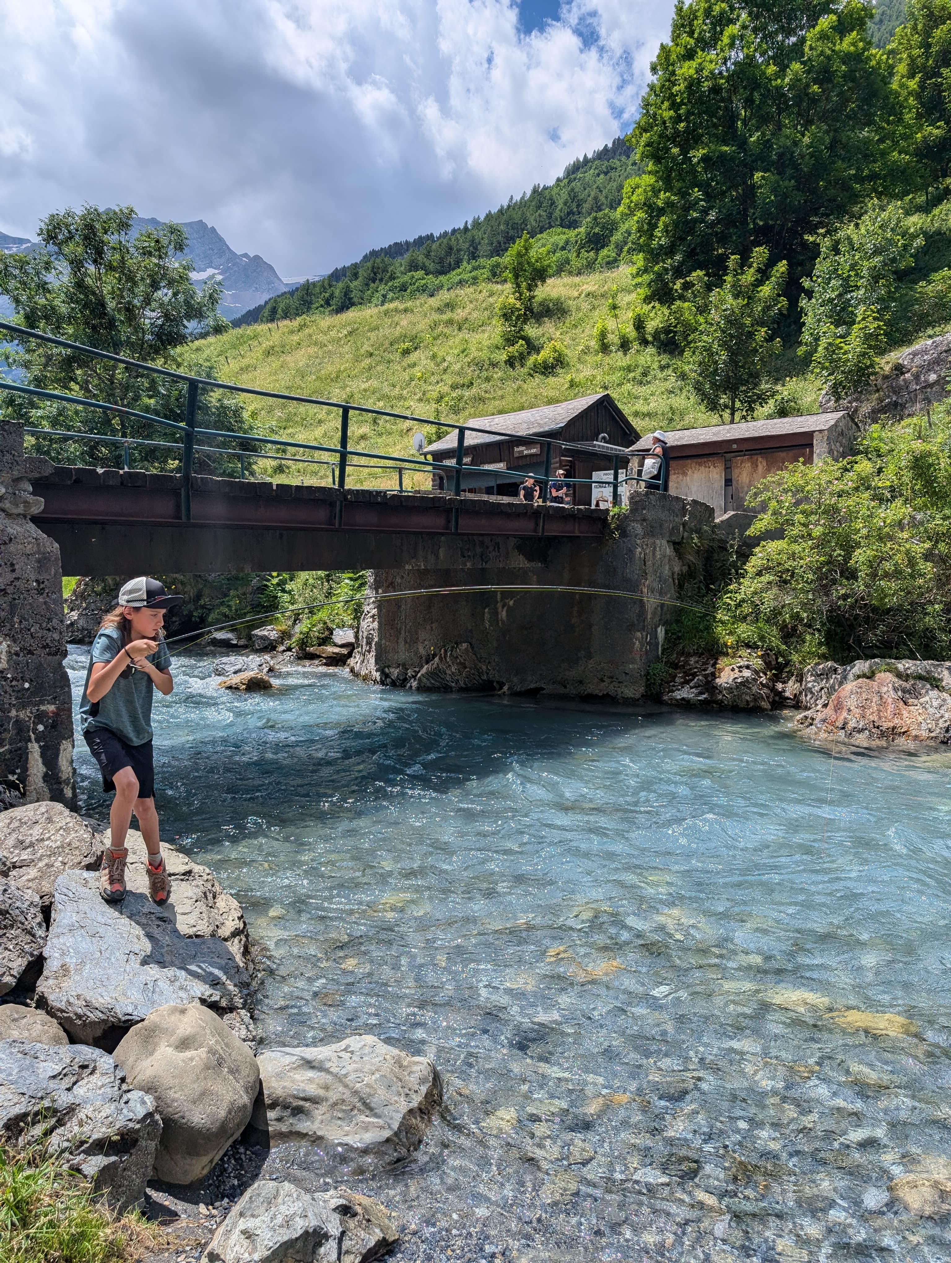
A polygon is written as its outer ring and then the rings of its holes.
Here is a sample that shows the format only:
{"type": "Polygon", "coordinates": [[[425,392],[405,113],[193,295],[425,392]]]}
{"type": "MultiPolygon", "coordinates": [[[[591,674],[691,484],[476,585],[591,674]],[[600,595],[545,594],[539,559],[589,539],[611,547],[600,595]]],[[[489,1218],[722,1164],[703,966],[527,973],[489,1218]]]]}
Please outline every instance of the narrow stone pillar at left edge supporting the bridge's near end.
{"type": "Polygon", "coordinates": [[[24,457],[23,426],[0,422],[0,787],[14,801],[73,806],[59,549],[29,520],[43,508],[30,479],[49,469],[24,457]]]}

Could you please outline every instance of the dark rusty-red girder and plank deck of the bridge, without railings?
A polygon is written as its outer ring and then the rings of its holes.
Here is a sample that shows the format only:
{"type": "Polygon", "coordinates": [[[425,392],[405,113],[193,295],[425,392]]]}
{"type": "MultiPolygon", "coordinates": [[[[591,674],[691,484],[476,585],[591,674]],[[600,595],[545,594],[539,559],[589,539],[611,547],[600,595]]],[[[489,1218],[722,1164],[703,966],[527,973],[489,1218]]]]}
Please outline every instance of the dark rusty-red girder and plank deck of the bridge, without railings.
{"type": "Polygon", "coordinates": [[[544,566],[607,527],[606,509],[202,476],[182,522],[181,488],[177,474],[56,466],[33,479],[33,520],[66,575],[544,566]]]}

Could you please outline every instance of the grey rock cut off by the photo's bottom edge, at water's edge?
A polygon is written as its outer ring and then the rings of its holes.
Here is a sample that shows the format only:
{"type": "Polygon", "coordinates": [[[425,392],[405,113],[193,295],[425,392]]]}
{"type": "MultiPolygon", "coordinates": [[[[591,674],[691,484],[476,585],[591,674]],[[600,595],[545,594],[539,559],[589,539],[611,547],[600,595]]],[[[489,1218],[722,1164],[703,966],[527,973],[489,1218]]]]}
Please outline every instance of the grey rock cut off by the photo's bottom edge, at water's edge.
{"type": "Polygon", "coordinates": [[[398,1240],[386,1211],[370,1197],[259,1180],[211,1239],[202,1263],[371,1263],[398,1240]]]}

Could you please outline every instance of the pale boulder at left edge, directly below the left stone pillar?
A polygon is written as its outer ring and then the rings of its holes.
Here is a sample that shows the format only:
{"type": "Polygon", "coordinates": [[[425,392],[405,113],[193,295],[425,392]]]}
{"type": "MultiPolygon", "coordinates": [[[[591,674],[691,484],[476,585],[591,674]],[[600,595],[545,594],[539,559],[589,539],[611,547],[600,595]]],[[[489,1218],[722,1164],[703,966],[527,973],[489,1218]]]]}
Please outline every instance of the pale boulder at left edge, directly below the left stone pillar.
{"type": "Polygon", "coordinates": [[[34,802],[0,816],[0,850],[10,864],[10,880],[35,890],[48,911],[62,873],[99,868],[102,837],[61,803],[34,802]]]}

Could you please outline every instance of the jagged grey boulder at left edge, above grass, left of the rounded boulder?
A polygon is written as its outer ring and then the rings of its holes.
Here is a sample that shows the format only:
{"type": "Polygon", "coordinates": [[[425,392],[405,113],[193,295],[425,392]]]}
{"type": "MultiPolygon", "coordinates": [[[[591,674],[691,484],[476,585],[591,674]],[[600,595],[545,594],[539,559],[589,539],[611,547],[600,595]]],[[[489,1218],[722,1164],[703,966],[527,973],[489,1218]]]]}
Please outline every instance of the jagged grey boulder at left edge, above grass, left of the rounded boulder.
{"type": "Polygon", "coordinates": [[[0,1135],[68,1153],[116,1210],[144,1196],[160,1134],[152,1098],[129,1087],[107,1053],[0,1041],[0,1135]]]}

